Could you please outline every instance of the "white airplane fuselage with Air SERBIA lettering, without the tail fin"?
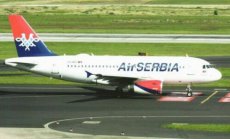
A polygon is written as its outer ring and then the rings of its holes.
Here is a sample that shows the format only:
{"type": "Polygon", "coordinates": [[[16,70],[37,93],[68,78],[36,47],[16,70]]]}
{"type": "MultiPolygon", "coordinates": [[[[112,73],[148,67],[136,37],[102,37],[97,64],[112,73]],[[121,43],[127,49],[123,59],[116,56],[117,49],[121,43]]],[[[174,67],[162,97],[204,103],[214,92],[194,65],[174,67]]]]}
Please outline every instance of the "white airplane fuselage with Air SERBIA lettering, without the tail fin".
{"type": "Polygon", "coordinates": [[[161,80],[164,84],[216,81],[221,73],[208,67],[209,62],[193,57],[175,56],[47,56],[20,57],[5,60],[5,64],[74,82],[110,84],[99,75],[118,78],[161,80]],[[87,72],[93,75],[88,76],[87,72]]]}

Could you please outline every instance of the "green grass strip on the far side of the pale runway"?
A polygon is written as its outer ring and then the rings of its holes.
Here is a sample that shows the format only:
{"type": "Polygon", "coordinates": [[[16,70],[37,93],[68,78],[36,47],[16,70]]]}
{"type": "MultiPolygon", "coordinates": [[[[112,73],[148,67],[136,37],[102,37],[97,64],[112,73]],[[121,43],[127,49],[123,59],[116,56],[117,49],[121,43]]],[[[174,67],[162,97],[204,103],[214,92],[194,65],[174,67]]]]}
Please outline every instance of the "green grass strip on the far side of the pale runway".
{"type": "MultiPolygon", "coordinates": [[[[156,11],[161,9],[156,9],[156,11]]],[[[204,10],[205,11],[205,10],[204,10]]],[[[227,10],[227,15],[230,10],[227,10]]],[[[230,16],[175,11],[176,15],[22,14],[37,32],[63,33],[172,33],[230,34],[230,16]],[[188,14],[188,15],[187,15],[188,14]]],[[[6,15],[0,15],[1,33],[11,32],[6,15]]]]}

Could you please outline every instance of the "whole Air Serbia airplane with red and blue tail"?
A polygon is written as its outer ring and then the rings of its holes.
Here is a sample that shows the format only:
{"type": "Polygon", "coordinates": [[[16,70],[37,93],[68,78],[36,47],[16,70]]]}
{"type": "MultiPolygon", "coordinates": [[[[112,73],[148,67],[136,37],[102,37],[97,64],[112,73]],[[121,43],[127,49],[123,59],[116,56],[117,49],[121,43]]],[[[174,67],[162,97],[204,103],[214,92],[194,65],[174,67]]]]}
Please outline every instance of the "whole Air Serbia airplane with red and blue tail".
{"type": "Polygon", "coordinates": [[[209,62],[189,56],[57,55],[50,51],[21,15],[9,15],[17,58],[5,64],[17,69],[72,82],[112,85],[117,92],[161,95],[163,84],[191,84],[221,79],[209,62]]]}

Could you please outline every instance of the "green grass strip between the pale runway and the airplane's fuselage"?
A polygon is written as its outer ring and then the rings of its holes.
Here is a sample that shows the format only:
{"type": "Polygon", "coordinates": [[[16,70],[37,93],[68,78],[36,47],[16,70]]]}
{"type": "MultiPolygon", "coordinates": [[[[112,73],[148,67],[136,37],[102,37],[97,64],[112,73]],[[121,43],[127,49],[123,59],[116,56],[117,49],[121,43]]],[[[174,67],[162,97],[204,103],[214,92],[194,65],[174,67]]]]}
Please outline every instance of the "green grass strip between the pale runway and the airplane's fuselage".
{"type": "MultiPolygon", "coordinates": [[[[95,55],[137,55],[147,52],[151,56],[229,56],[229,44],[151,44],[151,43],[74,43],[47,42],[50,50],[59,55],[93,53],[95,55]]],[[[17,57],[13,42],[1,42],[0,60],[17,57]]]]}

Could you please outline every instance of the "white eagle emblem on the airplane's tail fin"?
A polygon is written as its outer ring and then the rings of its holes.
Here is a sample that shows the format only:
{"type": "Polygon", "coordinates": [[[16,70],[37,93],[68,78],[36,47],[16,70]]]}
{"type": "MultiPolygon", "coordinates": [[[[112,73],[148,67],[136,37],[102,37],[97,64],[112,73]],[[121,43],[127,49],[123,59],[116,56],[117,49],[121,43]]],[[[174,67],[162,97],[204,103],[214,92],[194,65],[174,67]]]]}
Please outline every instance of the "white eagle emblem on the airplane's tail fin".
{"type": "Polygon", "coordinates": [[[30,47],[36,47],[36,45],[34,44],[34,42],[39,42],[38,38],[34,38],[34,34],[30,33],[29,38],[26,39],[26,34],[22,33],[22,37],[21,38],[16,38],[15,39],[16,42],[21,42],[21,44],[19,44],[20,47],[25,47],[25,51],[30,51],[30,47]]]}

